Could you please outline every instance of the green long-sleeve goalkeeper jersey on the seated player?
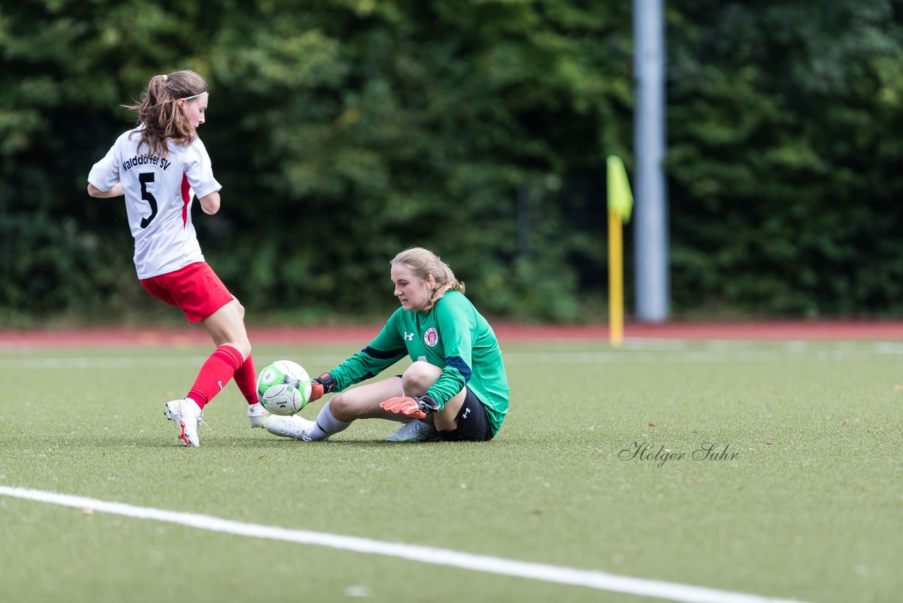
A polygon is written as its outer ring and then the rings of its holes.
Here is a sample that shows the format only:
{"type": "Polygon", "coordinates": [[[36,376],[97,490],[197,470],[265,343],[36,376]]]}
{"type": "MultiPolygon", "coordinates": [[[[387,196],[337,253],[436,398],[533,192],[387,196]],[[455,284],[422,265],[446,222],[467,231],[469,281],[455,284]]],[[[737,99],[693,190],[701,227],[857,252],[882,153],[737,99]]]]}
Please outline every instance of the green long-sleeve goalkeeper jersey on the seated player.
{"type": "Polygon", "coordinates": [[[336,391],[376,376],[405,354],[442,369],[427,391],[440,410],[465,385],[470,387],[495,436],[508,408],[505,364],[496,334],[467,297],[449,291],[428,312],[399,307],[376,339],[330,371],[336,391]]]}

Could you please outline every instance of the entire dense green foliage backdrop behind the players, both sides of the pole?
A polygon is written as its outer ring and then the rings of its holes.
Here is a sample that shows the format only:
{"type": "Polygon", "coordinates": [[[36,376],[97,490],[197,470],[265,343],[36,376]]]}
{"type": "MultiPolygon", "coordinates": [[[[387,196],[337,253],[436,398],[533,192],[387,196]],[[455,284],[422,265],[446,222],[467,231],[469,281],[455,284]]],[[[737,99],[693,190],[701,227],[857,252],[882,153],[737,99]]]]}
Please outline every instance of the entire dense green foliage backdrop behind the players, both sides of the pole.
{"type": "MultiPolygon", "coordinates": [[[[901,3],[667,9],[675,312],[903,309],[901,3]]],[[[381,315],[388,259],[424,245],[490,315],[598,318],[585,310],[605,291],[604,159],[633,163],[630,11],[7,3],[0,317],[155,307],[121,203],[84,187],[134,123],[120,105],[189,68],[209,82],[200,135],[224,185],[222,211],[195,224],[253,316],[381,315]]]]}

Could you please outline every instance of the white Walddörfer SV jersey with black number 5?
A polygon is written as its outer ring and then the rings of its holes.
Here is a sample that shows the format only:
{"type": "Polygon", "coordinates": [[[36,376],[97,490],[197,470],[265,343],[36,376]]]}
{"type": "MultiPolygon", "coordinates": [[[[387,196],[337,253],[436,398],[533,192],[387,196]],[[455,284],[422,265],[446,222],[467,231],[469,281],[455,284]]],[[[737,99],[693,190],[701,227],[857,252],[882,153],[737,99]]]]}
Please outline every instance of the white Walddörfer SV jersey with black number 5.
{"type": "Polygon", "coordinates": [[[144,155],[138,153],[140,137],[139,129],[116,138],[107,156],[91,168],[88,182],[101,191],[122,183],[135,237],[135,269],[138,278],[150,278],[204,260],[191,223],[191,200],[222,187],[200,138],[187,146],[170,143],[165,157],[148,157],[146,146],[144,155]]]}

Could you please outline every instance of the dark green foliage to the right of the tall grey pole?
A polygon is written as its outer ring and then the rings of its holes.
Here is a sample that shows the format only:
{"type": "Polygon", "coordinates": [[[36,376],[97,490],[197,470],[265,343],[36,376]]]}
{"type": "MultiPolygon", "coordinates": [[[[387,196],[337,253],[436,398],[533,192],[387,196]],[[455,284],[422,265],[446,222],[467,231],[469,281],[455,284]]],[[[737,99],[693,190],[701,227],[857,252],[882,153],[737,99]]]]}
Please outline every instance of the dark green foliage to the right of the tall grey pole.
{"type": "Polygon", "coordinates": [[[898,308],[900,3],[672,6],[675,303],[898,308]]]}

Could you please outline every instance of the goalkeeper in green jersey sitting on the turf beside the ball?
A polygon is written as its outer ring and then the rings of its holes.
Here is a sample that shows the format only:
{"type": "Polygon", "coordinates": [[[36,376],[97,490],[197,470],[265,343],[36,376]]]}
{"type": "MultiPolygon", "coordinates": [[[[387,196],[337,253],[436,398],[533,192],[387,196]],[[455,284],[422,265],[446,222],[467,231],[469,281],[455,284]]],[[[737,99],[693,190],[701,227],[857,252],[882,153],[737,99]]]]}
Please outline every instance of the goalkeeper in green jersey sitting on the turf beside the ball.
{"type": "Polygon", "coordinates": [[[482,441],[505,419],[508,385],[496,335],[464,297],[464,284],[432,251],[413,248],[390,262],[401,302],[367,347],[313,380],[311,400],[335,393],[315,421],[270,415],[277,436],[321,440],[355,419],[405,423],[389,441],[482,441]],[[348,389],[407,356],[400,375],[348,389]]]}

